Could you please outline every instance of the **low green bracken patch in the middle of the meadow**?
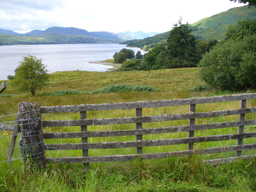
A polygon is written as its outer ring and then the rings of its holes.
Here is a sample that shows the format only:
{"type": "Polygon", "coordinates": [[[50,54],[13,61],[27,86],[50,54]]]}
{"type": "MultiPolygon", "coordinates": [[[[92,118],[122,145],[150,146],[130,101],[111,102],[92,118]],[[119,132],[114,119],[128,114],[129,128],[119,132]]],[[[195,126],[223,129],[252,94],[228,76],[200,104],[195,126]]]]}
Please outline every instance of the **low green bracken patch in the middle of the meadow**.
{"type": "Polygon", "coordinates": [[[136,91],[136,92],[156,92],[158,91],[158,88],[154,88],[151,86],[146,85],[130,85],[130,84],[121,84],[121,85],[110,85],[106,86],[102,89],[90,91],[89,93],[95,94],[95,93],[112,93],[112,92],[130,92],[130,91],[136,91]]]}

